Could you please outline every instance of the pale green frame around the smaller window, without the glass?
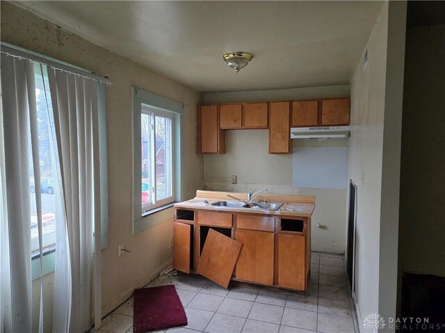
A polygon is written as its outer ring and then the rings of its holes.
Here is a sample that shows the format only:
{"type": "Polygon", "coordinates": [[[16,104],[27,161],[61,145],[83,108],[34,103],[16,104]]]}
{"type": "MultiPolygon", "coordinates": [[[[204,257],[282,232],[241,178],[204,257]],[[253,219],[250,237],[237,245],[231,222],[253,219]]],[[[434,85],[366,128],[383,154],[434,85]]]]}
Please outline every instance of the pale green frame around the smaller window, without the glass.
{"type": "MultiPolygon", "coordinates": [[[[181,113],[183,105],[163,96],[132,87],[133,110],[133,234],[141,232],[169,219],[170,210],[175,202],[181,200],[181,113]],[[143,212],[141,200],[142,154],[141,154],[141,113],[148,107],[156,112],[172,115],[172,193],[170,203],[152,207],[143,212]],[[170,210],[167,210],[170,208],[170,210]]],[[[171,217],[170,217],[171,218],[171,217]]]]}

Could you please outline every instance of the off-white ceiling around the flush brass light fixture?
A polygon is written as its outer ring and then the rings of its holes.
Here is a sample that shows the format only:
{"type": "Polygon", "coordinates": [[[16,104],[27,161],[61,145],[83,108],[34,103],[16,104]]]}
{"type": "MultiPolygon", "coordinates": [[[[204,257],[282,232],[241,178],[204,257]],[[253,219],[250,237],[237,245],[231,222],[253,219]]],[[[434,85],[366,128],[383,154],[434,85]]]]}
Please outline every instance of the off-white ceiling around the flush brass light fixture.
{"type": "Polygon", "coordinates": [[[14,1],[199,92],[349,83],[380,1],[14,1]],[[236,74],[227,51],[254,55],[236,74]]]}

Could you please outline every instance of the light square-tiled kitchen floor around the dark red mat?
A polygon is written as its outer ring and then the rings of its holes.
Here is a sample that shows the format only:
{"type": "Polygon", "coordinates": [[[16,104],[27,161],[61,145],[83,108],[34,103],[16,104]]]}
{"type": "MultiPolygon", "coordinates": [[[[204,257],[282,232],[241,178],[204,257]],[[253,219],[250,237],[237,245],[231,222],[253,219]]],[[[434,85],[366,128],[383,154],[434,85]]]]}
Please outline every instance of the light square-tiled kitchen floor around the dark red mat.
{"type": "MultiPolygon", "coordinates": [[[[147,287],[175,284],[188,325],[157,332],[358,332],[344,259],[312,253],[308,296],[232,282],[229,289],[194,275],[157,278],[147,287]]],[[[99,333],[133,332],[133,298],[104,318],[99,333]]]]}

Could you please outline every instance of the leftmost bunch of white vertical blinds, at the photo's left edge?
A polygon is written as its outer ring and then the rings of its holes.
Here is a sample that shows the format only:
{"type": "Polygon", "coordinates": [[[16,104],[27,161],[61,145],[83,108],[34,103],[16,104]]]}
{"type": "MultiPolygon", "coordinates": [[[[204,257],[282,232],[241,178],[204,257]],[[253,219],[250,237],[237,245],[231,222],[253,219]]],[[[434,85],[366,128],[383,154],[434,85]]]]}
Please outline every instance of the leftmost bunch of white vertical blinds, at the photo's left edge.
{"type": "MultiPolygon", "coordinates": [[[[29,196],[29,62],[1,55],[0,330],[31,332],[31,212],[29,196]]],[[[31,98],[32,98],[31,96],[31,98]]],[[[41,225],[40,225],[41,226],[41,225]]]]}

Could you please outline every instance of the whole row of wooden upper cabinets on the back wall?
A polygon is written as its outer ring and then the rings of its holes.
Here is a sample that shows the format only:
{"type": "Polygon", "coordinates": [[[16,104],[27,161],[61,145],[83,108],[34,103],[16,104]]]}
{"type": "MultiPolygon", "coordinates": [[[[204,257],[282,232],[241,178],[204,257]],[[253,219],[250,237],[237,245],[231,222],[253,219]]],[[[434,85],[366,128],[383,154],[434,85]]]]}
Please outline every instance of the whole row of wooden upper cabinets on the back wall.
{"type": "Polygon", "coordinates": [[[225,130],[269,128],[269,153],[291,152],[291,127],[347,126],[350,99],[198,105],[197,153],[225,154],[225,130]]]}

